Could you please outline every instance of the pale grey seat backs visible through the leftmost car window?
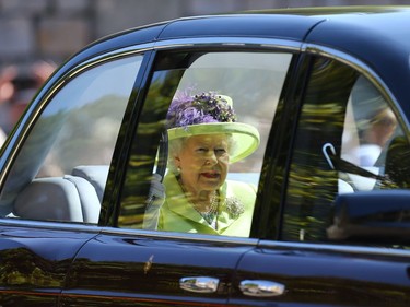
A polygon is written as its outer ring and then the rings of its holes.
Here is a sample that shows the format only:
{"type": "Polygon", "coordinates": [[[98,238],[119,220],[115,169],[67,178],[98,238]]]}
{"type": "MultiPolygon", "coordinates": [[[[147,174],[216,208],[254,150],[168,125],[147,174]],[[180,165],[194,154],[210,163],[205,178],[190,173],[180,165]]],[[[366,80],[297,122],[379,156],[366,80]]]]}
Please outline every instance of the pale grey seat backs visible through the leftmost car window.
{"type": "Polygon", "coordinates": [[[98,223],[108,165],[75,167],[71,175],[34,179],[16,197],[15,215],[31,220],[98,223]]]}

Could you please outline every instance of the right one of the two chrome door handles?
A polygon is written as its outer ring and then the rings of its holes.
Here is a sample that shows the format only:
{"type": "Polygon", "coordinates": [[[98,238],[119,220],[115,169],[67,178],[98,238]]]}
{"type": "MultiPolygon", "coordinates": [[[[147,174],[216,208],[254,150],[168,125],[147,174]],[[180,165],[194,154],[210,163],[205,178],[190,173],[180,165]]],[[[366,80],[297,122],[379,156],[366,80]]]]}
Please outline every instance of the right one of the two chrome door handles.
{"type": "Polygon", "coordinates": [[[270,281],[245,280],[241,282],[239,288],[247,296],[269,297],[282,295],[285,286],[270,281]]]}

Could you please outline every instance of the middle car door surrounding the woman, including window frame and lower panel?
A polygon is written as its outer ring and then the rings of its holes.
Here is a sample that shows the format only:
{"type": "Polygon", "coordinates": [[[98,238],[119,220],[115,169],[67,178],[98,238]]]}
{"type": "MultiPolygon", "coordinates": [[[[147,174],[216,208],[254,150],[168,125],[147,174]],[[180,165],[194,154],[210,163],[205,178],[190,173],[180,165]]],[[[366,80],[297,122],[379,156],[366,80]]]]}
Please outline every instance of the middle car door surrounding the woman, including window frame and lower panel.
{"type": "Polygon", "coordinates": [[[156,51],[153,70],[137,101],[141,113],[129,140],[130,152],[121,153],[127,160],[124,163],[118,156],[118,163],[112,165],[125,167],[124,172],[122,172],[125,177],[124,182],[108,177],[107,186],[119,187],[121,182],[122,188],[105,198],[120,198],[120,206],[103,205],[102,219],[109,226],[77,255],[63,291],[65,306],[226,305],[239,259],[257,246],[258,239],[249,235],[142,229],[145,205],[153,173],[164,176],[171,172],[163,160],[166,142],[161,138],[165,115],[178,90],[227,95],[238,118],[258,128],[259,149],[232,165],[229,174],[233,180],[258,186],[270,123],[292,66],[290,50],[297,49],[220,45],[209,50],[192,44],[173,50],[172,43],[165,45],[168,49],[156,51]]]}

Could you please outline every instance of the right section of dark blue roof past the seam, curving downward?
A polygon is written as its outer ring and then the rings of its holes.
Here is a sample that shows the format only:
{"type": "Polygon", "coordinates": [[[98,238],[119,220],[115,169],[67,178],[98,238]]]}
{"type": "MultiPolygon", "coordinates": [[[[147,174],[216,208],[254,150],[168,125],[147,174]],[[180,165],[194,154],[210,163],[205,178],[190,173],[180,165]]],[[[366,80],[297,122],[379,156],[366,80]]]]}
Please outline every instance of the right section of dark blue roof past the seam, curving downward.
{"type": "Polygon", "coordinates": [[[331,46],[368,64],[384,80],[402,110],[410,115],[410,35],[408,12],[387,10],[373,14],[329,17],[309,33],[307,43],[331,46]]]}

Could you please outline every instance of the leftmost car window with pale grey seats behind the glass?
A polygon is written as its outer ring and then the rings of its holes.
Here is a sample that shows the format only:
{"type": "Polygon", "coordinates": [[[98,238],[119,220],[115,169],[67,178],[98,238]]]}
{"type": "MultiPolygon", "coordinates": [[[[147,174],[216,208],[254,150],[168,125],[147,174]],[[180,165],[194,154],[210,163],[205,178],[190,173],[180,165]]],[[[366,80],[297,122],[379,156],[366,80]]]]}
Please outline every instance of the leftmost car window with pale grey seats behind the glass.
{"type": "Polygon", "coordinates": [[[2,216],[97,223],[122,116],[142,57],[89,68],[47,103],[13,163],[2,216]]]}

